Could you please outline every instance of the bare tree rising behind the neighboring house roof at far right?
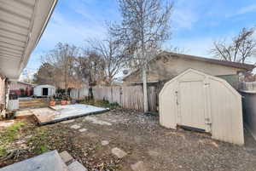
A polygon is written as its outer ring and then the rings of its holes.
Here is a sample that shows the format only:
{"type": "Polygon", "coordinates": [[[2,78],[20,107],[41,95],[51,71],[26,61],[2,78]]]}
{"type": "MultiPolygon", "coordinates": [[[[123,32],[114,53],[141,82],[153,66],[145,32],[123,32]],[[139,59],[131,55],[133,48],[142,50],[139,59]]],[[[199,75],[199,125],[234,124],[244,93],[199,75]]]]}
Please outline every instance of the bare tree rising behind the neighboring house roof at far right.
{"type": "Polygon", "coordinates": [[[253,33],[255,28],[242,28],[238,36],[233,37],[231,43],[225,40],[215,41],[211,54],[220,60],[244,63],[256,54],[256,38],[253,33]]]}

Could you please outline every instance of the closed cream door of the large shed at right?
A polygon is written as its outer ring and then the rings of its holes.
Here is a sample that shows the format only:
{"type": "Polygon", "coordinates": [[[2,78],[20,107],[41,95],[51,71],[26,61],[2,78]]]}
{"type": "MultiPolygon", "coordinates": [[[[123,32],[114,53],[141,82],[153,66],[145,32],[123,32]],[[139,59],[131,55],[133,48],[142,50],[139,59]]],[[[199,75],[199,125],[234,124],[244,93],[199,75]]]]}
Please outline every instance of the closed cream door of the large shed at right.
{"type": "Polygon", "coordinates": [[[202,81],[179,83],[180,124],[191,128],[207,130],[205,123],[205,93],[202,81]]]}

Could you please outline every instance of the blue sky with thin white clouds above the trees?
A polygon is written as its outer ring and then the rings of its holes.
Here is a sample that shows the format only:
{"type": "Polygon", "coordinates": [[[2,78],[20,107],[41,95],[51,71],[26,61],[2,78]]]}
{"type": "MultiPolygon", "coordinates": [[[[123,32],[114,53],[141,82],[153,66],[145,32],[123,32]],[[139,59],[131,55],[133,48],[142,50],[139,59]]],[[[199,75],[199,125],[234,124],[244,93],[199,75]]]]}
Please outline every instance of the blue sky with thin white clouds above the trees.
{"type": "MultiPolygon", "coordinates": [[[[172,39],[165,46],[186,54],[211,57],[213,40],[234,37],[242,27],[256,26],[255,0],[174,0],[172,39]]],[[[59,0],[26,71],[35,72],[40,56],[58,42],[82,47],[84,40],[104,37],[106,21],[119,21],[116,0],[59,0]]]]}

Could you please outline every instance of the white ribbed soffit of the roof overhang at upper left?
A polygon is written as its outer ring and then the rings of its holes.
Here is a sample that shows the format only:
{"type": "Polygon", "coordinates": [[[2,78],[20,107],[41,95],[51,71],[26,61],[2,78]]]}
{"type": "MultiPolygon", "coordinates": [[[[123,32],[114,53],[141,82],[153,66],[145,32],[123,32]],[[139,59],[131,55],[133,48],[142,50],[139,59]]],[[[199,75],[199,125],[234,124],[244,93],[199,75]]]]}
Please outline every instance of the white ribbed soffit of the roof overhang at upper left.
{"type": "Polygon", "coordinates": [[[18,79],[57,0],[0,0],[0,74],[18,79]]]}

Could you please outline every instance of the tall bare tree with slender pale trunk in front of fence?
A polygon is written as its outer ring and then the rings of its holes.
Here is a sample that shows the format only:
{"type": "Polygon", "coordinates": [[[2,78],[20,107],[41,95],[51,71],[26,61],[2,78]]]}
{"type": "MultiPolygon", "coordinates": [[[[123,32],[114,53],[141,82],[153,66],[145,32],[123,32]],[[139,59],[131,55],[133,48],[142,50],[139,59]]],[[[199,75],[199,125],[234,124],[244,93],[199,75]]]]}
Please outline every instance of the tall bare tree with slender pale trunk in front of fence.
{"type": "Polygon", "coordinates": [[[119,0],[122,22],[110,26],[113,37],[132,54],[131,64],[143,69],[144,111],[148,111],[148,61],[171,35],[172,7],[169,1],[164,5],[161,0],[119,0]]]}

